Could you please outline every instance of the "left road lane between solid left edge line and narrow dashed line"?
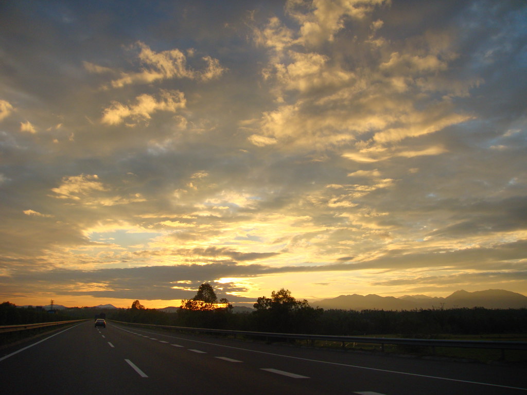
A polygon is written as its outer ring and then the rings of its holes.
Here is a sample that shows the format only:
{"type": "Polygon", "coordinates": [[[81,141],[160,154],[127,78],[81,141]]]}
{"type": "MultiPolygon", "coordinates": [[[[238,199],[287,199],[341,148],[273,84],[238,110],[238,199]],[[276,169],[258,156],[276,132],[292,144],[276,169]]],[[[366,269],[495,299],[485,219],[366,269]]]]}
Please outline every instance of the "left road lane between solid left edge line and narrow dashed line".
{"type": "Polygon", "coordinates": [[[87,321],[0,362],[3,393],[135,394],[140,379],[87,321]]]}

